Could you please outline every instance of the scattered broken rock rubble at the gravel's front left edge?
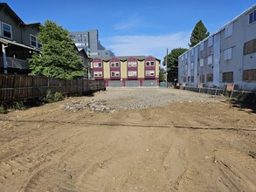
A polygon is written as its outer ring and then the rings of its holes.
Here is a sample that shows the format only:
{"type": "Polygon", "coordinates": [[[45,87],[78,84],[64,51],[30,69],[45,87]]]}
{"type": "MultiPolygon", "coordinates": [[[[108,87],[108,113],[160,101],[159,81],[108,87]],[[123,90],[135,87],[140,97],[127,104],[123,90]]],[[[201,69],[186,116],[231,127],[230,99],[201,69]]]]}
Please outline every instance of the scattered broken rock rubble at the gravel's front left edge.
{"type": "Polygon", "coordinates": [[[77,112],[84,109],[89,109],[91,112],[114,113],[114,108],[107,106],[106,100],[72,100],[65,105],[60,106],[62,109],[77,112]]]}

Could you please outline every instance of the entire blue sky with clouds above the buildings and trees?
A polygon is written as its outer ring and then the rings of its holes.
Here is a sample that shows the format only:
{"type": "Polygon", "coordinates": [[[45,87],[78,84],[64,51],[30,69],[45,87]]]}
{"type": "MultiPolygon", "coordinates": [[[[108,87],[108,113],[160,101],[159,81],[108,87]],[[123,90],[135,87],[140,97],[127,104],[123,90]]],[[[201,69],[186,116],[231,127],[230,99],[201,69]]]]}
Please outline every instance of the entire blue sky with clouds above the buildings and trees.
{"type": "MultiPolygon", "coordinates": [[[[3,1],[2,1],[3,2],[3,1]]],[[[163,60],[166,48],[188,47],[201,19],[218,31],[255,0],[8,0],[24,23],[49,19],[68,31],[97,29],[102,45],[115,55],[152,55],[163,60]]]]}

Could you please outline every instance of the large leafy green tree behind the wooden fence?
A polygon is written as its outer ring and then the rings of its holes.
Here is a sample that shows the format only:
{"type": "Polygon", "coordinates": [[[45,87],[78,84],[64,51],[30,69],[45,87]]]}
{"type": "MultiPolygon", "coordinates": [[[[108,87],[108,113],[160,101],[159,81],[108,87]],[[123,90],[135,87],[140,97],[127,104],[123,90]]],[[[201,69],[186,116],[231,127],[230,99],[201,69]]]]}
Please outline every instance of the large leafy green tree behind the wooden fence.
{"type": "Polygon", "coordinates": [[[45,21],[38,32],[38,40],[43,47],[40,54],[34,54],[28,60],[31,75],[74,79],[85,74],[73,39],[62,26],[49,20],[45,21]]]}

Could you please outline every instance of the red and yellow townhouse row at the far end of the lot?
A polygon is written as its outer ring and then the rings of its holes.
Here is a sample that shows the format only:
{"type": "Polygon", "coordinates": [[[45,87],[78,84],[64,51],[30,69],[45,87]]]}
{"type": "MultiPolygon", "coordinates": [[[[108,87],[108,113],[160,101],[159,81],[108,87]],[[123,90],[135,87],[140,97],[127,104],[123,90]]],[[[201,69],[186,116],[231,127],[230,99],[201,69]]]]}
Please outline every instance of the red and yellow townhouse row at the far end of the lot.
{"type": "Polygon", "coordinates": [[[107,87],[159,86],[161,60],[152,56],[93,58],[94,79],[104,79],[107,87]]]}

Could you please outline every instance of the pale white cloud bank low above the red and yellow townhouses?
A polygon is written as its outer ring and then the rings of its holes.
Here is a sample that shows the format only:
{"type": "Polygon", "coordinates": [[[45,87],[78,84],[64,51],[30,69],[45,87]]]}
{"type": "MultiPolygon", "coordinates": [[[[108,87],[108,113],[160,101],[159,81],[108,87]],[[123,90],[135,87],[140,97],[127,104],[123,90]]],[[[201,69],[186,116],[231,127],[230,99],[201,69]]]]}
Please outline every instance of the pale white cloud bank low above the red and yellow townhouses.
{"type": "Polygon", "coordinates": [[[188,47],[190,32],[179,32],[159,36],[115,36],[105,39],[107,49],[116,56],[154,56],[163,60],[166,48],[171,51],[178,47],[188,47]]]}

